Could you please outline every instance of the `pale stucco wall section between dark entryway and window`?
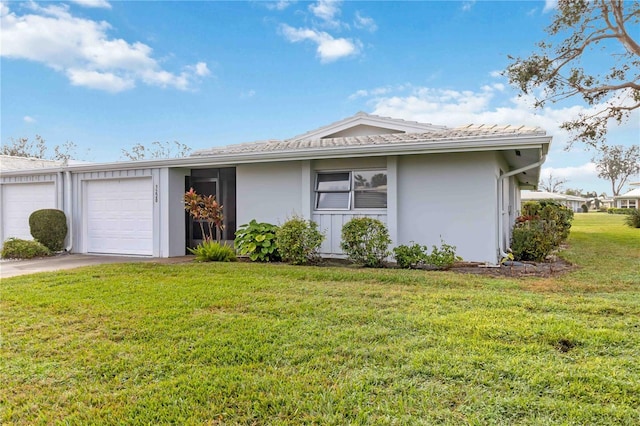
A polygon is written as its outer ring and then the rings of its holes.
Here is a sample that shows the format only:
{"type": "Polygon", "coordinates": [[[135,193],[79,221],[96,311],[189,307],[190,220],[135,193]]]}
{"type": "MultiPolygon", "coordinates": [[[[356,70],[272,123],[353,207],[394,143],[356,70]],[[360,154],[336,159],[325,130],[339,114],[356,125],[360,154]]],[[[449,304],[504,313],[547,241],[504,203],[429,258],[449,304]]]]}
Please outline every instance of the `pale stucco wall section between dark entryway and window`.
{"type": "Polygon", "coordinates": [[[293,215],[307,216],[308,163],[302,161],[243,164],[236,167],[236,222],[282,224],[293,215]],[[303,208],[304,201],[304,208],[303,208]]]}

